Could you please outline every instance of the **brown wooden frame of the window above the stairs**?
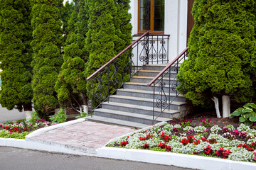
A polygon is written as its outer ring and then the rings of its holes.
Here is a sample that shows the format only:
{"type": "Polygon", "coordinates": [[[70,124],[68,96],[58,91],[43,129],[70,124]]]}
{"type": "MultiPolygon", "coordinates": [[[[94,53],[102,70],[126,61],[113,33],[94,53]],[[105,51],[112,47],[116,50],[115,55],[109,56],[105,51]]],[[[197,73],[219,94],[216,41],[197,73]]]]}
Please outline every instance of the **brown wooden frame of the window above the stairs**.
{"type": "MultiPolygon", "coordinates": [[[[140,30],[140,1],[143,0],[138,0],[138,33],[145,33],[146,30],[140,30]]],[[[165,8],[165,3],[164,3],[164,8],[165,8]]],[[[165,17],[164,17],[165,18],[165,17]]],[[[155,30],[154,31],[154,0],[150,0],[150,29],[149,33],[164,33],[164,30],[155,30]]]]}

